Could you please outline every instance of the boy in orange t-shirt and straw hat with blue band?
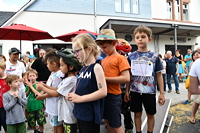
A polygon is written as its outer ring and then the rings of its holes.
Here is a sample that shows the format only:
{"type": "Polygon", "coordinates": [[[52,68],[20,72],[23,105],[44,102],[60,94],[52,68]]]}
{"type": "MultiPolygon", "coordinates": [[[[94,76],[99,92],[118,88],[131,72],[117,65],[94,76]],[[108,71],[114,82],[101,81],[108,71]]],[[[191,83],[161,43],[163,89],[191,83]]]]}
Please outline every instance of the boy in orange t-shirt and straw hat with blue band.
{"type": "Polygon", "coordinates": [[[101,30],[101,35],[98,35],[96,43],[107,55],[101,63],[108,88],[104,106],[104,119],[107,123],[107,130],[108,132],[124,133],[121,124],[122,91],[120,84],[130,81],[130,65],[126,57],[118,54],[115,49],[117,39],[113,30],[101,30]]]}

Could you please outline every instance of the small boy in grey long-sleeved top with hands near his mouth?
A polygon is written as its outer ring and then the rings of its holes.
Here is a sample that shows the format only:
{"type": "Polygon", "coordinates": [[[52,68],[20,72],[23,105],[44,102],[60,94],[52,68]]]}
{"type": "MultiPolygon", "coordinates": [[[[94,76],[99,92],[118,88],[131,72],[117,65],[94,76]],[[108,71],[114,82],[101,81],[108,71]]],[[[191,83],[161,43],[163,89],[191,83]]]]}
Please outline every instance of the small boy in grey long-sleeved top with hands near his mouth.
{"type": "Polygon", "coordinates": [[[19,79],[17,75],[6,77],[6,83],[10,86],[10,90],[3,94],[3,105],[6,110],[8,133],[26,133],[24,107],[27,99],[24,90],[19,90],[19,79]]]}

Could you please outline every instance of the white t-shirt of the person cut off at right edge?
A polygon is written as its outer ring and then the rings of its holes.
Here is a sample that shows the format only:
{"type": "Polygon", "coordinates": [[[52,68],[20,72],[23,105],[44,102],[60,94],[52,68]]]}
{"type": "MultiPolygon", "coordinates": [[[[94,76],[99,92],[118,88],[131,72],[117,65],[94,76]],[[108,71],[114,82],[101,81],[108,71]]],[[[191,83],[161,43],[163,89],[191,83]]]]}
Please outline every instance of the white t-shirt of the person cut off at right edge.
{"type": "Polygon", "coordinates": [[[200,59],[197,59],[192,64],[189,75],[192,77],[198,77],[198,79],[200,81],[200,71],[199,70],[200,70],[200,59]]]}

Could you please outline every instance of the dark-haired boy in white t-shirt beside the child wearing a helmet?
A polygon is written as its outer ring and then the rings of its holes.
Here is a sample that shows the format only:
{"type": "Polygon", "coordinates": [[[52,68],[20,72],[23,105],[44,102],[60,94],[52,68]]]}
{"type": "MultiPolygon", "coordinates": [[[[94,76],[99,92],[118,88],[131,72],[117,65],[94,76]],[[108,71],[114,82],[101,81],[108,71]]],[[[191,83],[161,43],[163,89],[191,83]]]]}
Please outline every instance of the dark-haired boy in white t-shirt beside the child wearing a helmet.
{"type": "MultiPolygon", "coordinates": [[[[49,49],[45,56],[45,62],[51,75],[46,84],[39,84],[46,89],[57,90],[64,74],[60,71],[60,56],[55,53],[56,49],[49,49]]],[[[38,85],[39,86],[39,85],[38,85]]],[[[50,125],[54,127],[54,133],[63,133],[63,122],[58,121],[58,100],[59,97],[53,97],[45,94],[37,94],[37,99],[46,98],[46,112],[49,117],[50,125]]]]}

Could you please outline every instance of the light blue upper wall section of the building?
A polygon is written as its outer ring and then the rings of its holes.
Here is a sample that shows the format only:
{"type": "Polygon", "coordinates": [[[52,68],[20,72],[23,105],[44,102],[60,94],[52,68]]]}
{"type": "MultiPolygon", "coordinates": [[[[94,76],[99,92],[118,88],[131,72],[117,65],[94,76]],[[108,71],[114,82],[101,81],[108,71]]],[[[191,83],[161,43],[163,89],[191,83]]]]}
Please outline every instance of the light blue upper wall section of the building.
{"type": "Polygon", "coordinates": [[[115,12],[115,0],[37,0],[26,11],[95,14],[95,7],[97,15],[151,19],[151,0],[139,0],[138,14],[115,12]]]}

